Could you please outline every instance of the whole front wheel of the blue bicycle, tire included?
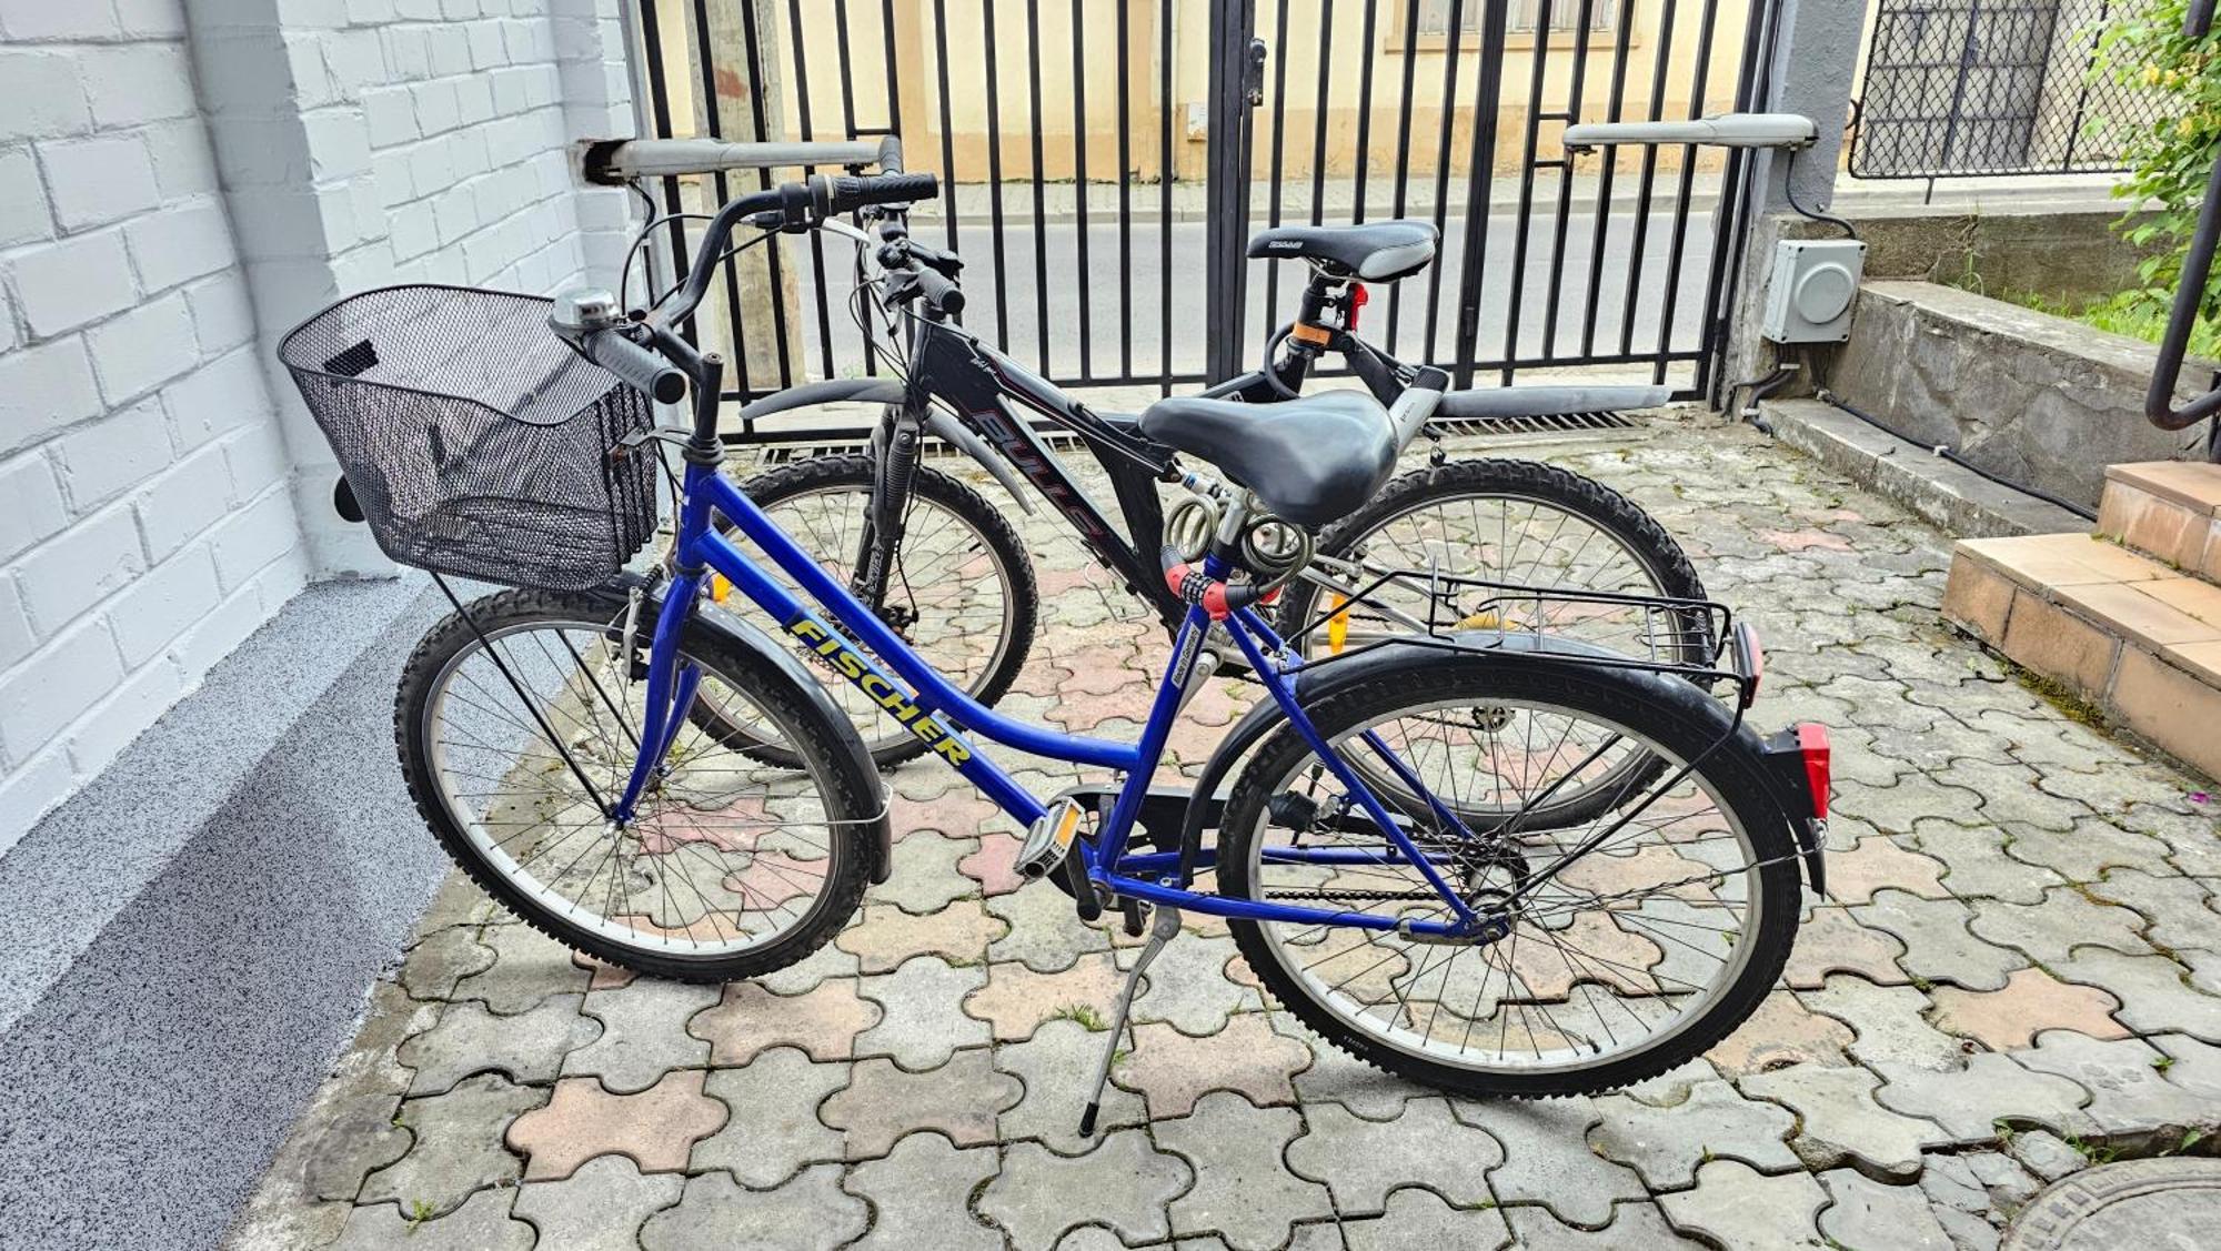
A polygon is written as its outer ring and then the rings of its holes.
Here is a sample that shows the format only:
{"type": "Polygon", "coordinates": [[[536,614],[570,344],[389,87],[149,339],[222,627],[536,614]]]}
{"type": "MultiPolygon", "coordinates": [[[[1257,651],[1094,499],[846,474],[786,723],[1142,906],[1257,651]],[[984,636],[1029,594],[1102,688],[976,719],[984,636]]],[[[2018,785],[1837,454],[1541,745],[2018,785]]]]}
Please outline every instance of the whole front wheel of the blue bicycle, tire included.
{"type": "Polygon", "coordinates": [[[751,978],[808,956],[877,869],[877,779],[835,714],[695,623],[700,699],[746,710],[788,763],[684,725],[631,823],[649,639],[624,603],[511,590],[446,617],[402,670],[393,736],[449,856],[535,929],[660,978],[751,978]]]}

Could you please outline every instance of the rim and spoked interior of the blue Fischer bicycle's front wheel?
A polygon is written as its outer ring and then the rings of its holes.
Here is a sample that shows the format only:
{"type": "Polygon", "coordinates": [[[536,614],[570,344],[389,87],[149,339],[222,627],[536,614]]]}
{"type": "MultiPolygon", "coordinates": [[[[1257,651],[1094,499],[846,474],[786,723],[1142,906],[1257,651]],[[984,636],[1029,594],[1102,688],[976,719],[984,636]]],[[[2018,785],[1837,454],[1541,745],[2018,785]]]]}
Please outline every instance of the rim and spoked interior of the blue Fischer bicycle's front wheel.
{"type": "MultiPolygon", "coordinates": [[[[609,801],[622,794],[646,688],[633,679],[644,648],[626,665],[611,632],[513,623],[442,665],[420,732],[453,827],[529,905],[622,947],[726,958],[804,929],[828,907],[846,856],[828,816],[833,779],[808,754],[800,770],[766,765],[682,723],[640,816],[626,830],[600,816],[586,783],[609,801]],[[537,719],[502,665],[533,692],[537,719]]],[[[715,670],[704,668],[702,685],[793,743],[777,712],[715,670]]]]}

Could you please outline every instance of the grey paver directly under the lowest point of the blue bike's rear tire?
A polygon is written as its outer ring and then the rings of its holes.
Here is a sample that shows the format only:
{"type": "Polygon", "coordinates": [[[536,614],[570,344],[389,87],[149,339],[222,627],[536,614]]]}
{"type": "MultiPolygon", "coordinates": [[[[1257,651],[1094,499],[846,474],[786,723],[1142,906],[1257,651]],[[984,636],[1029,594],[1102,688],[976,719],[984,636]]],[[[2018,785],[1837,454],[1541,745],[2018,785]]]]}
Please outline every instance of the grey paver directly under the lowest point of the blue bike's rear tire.
{"type": "Polygon", "coordinates": [[[1635,1169],[1588,1149],[1588,1129],[1604,1116],[1588,1098],[1497,1100],[1453,1111],[1504,1147],[1504,1162],[1488,1173],[1497,1202],[1541,1202],[1568,1224],[1599,1229],[1610,1224],[1615,1202],[1648,1193],[1635,1169]]]}

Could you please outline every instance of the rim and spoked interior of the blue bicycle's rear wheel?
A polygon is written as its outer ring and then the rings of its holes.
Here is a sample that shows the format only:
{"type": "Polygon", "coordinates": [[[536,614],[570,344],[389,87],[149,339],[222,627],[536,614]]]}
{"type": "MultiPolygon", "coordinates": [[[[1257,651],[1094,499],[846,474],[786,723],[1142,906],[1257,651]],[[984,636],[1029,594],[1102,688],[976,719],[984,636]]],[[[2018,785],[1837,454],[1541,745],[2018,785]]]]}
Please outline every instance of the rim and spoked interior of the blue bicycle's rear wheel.
{"type": "MultiPolygon", "coordinates": [[[[1428,790],[1441,792],[1444,799],[1477,785],[1537,794],[1552,781],[1546,767],[1537,770],[1532,752],[1510,765],[1484,761],[1473,754],[1470,743],[1428,745],[1404,725],[1413,712],[1457,703],[1395,710],[1337,736],[1335,752],[1344,759],[1370,754],[1355,739],[1368,728],[1377,730],[1428,790]]],[[[1579,719],[1610,728],[1675,765],[1670,774],[1679,772],[1677,756],[1615,721],[1530,701],[1501,701],[1501,705],[1537,723],[1579,719]]],[[[1570,765],[1572,761],[1561,761],[1559,770],[1570,765]]],[[[1304,754],[1275,779],[1270,794],[1299,792],[1313,781],[1339,794],[1313,754],[1304,754]]],[[[1561,876],[1537,887],[1513,914],[1510,936],[1499,943],[1421,945],[1395,932],[1273,921],[1257,923],[1257,932],[1268,958],[1299,987],[1299,994],[1344,1027],[1419,1060],[1481,1074],[1541,1076],[1650,1051],[1701,1020],[1741,978],[1766,921],[1761,865],[1743,823],[1701,776],[1690,774],[1670,790],[1666,783],[1668,779],[1661,779],[1646,790],[1646,794],[1657,792],[1646,818],[1630,823],[1597,854],[1575,861],[1561,876]],[[1684,881],[1690,876],[1699,881],[1684,881]]],[[[1284,810],[1279,818],[1273,816],[1273,805],[1262,807],[1262,827],[1248,838],[1250,898],[1321,889],[1428,892],[1410,865],[1328,872],[1319,865],[1268,861],[1270,847],[1381,843],[1377,834],[1297,832],[1282,825],[1290,805],[1282,801],[1279,807],[1284,810]]],[[[1581,827],[1519,832],[1515,843],[1526,872],[1541,869],[1561,850],[1579,845],[1610,821],[1606,814],[1581,827]]],[[[1517,876],[1508,856],[1481,856],[1464,885],[1506,892],[1515,887],[1517,876]]],[[[1413,921],[1450,916],[1433,892],[1426,901],[1344,898],[1341,903],[1413,921]]]]}

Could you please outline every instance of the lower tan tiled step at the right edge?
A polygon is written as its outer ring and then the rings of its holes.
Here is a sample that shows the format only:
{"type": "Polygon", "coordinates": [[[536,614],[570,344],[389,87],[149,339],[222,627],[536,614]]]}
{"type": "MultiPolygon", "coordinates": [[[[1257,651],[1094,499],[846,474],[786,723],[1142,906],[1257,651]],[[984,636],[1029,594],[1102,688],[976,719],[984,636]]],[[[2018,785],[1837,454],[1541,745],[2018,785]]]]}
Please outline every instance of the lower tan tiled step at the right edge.
{"type": "Polygon", "coordinates": [[[2221,586],[2094,535],[1966,539],[1943,614],[2221,779],[2221,586]]]}

